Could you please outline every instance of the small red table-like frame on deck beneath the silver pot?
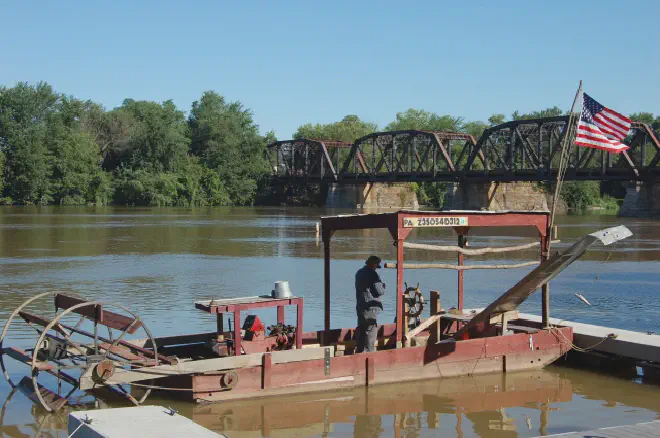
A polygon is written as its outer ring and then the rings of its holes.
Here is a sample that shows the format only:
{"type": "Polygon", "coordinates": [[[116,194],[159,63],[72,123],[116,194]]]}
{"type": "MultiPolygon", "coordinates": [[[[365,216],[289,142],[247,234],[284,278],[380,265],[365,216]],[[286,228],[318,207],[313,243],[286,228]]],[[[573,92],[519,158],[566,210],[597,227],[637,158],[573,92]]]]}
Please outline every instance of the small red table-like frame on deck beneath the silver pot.
{"type": "Polygon", "coordinates": [[[241,311],[251,309],[263,309],[266,307],[277,308],[277,323],[284,324],[284,307],[296,306],[296,348],[302,348],[302,325],[303,325],[303,299],[298,297],[291,298],[273,298],[268,301],[259,301],[256,303],[236,303],[236,304],[216,304],[213,301],[209,304],[195,303],[195,307],[203,312],[218,315],[218,334],[223,333],[222,315],[224,313],[234,314],[234,347],[237,355],[241,351],[241,311]]]}

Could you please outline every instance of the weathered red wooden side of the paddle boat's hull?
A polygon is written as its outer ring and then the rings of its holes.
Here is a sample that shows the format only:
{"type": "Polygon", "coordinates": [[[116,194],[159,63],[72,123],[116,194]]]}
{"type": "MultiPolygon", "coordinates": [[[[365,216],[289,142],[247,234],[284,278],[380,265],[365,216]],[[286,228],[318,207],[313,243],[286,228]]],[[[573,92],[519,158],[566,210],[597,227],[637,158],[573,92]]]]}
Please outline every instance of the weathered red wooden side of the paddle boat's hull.
{"type": "Polygon", "coordinates": [[[238,380],[231,390],[220,381],[226,372],[189,377],[196,400],[236,400],[540,369],[570,350],[572,340],[572,329],[562,327],[301,362],[272,364],[265,354],[261,366],[234,370],[238,380]]]}

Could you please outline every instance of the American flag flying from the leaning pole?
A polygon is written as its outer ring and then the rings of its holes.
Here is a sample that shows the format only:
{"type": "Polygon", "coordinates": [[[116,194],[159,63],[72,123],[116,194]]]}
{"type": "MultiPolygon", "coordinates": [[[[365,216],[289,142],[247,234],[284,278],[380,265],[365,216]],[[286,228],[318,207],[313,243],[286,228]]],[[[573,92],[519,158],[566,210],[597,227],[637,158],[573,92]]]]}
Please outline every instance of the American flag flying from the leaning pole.
{"type": "Polygon", "coordinates": [[[586,93],[578,123],[575,144],[603,149],[615,154],[629,148],[621,143],[630,130],[630,119],[599,104],[586,93]]]}

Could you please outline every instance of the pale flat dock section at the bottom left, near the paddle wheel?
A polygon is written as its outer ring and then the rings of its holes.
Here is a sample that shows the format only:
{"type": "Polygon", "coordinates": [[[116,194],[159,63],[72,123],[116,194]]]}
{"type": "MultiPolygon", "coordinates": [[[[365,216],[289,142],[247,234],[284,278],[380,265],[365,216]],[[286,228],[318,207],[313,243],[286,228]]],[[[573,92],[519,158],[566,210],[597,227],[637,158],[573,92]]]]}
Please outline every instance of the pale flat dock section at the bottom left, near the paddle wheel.
{"type": "Polygon", "coordinates": [[[72,438],[227,438],[162,406],[72,412],[68,432],[72,438]]]}

